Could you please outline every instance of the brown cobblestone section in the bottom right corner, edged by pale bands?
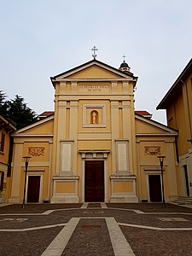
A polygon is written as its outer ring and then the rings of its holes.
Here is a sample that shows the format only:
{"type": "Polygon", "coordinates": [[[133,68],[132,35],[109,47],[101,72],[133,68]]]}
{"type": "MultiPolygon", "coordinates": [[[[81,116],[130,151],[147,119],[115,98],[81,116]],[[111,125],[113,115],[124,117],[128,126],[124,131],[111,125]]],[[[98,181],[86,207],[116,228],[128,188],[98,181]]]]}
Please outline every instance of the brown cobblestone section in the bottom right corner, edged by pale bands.
{"type": "Polygon", "coordinates": [[[192,231],[157,231],[121,227],[137,256],[191,256],[192,231]]]}

